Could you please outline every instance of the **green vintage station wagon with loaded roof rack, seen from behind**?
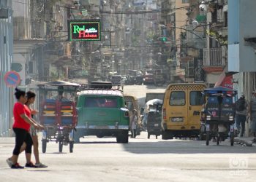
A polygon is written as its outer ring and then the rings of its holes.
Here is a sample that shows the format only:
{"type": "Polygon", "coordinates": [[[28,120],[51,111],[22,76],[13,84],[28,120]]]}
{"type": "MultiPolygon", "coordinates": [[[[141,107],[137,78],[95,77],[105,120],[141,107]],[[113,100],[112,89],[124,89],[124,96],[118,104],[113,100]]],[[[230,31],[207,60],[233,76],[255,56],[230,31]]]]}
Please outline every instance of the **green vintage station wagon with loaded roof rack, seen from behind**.
{"type": "Polygon", "coordinates": [[[78,125],[75,143],[86,135],[116,137],[117,143],[128,143],[129,110],[125,108],[123,92],[108,84],[83,88],[78,96],[78,125]]]}

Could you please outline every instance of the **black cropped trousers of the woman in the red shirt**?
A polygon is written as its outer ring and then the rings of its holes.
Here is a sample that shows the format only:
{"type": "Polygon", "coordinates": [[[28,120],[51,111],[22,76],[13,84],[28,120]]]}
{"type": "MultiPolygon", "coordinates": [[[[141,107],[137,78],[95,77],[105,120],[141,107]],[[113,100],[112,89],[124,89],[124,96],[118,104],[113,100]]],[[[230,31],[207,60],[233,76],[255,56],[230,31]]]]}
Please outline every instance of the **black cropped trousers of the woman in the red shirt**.
{"type": "Polygon", "coordinates": [[[12,128],[12,130],[15,132],[15,148],[13,149],[12,154],[18,156],[20,154],[20,148],[24,142],[26,143],[26,153],[31,154],[33,140],[30,133],[21,128],[12,128]]]}

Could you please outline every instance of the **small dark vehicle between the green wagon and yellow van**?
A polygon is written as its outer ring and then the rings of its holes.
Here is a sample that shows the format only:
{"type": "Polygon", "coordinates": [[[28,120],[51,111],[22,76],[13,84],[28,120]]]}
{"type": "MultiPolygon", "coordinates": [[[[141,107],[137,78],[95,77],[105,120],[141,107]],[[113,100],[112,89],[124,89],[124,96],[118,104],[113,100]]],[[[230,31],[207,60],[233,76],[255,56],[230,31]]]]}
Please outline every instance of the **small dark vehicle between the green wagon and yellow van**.
{"type": "Polygon", "coordinates": [[[162,121],[162,103],[153,104],[152,108],[148,112],[147,118],[147,132],[148,139],[150,135],[157,136],[162,134],[161,130],[161,121],[162,121]]]}

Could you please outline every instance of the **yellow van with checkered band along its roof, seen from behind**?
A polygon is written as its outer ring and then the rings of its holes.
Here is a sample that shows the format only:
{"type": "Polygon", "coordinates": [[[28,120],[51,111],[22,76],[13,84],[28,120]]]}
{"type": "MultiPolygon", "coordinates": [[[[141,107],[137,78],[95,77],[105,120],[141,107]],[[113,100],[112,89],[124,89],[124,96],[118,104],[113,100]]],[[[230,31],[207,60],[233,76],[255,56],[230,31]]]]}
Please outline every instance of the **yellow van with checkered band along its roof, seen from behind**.
{"type": "Polygon", "coordinates": [[[162,105],[162,139],[198,137],[203,83],[169,84],[162,105]]]}

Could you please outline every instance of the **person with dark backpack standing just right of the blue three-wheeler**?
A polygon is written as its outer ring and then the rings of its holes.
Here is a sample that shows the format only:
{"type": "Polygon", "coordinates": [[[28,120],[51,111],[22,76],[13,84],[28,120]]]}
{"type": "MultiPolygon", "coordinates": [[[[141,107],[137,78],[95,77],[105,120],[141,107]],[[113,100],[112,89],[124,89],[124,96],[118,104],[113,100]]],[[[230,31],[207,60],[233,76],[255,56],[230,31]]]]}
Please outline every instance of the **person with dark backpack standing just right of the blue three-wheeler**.
{"type": "Polygon", "coordinates": [[[248,103],[244,95],[241,95],[241,97],[236,101],[235,106],[236,106],[236,127],[238,128],[238,133],[240,133],[240,137],[243,137],[244,130],[245,130],[246,116],[248,114],[248,109],[247,109],[248,103]]]}

